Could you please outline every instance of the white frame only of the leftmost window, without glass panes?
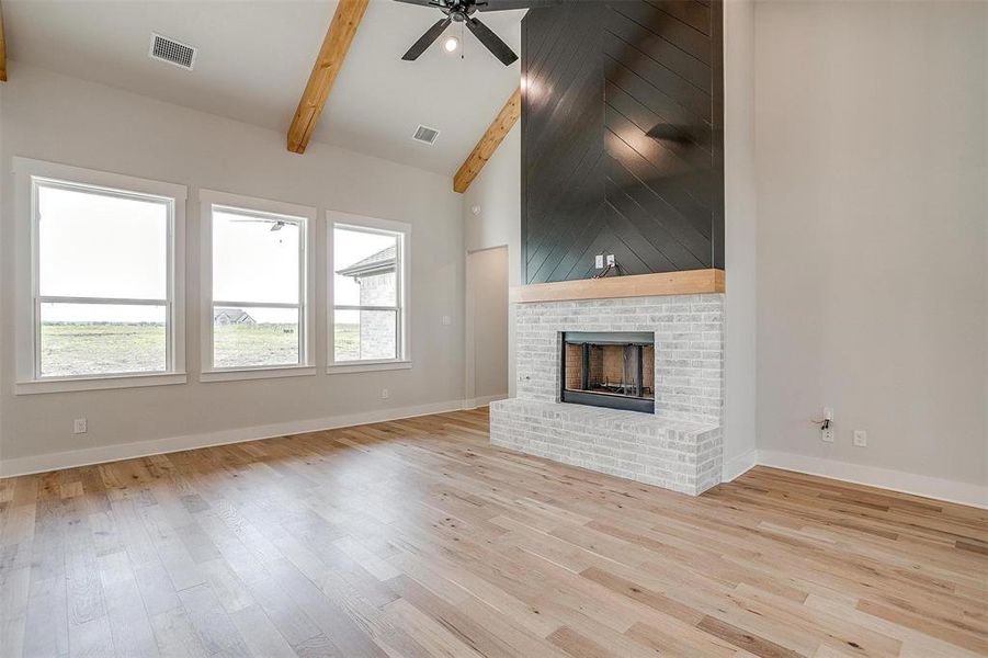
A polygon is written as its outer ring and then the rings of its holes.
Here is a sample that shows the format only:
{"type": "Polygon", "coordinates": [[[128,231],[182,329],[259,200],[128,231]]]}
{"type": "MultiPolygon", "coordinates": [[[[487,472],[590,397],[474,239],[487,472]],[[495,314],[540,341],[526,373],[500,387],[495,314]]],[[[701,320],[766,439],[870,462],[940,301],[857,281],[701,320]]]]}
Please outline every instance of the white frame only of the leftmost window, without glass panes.
{"type": "Polygon", "coordinates": [[[132,388],[184,384],[185,376],[185,198],[184,185],[83,169],[56,162],[14,157],[15,222],[15,344],[16,395],[105,388],[132,388]],[[167,288],[159,299],[96,297],[42,297],[39,293],[38,183],[81,189],[127,198],[166,202],[169,211],[167,288]],[[106,373],[73,376],[41,375],[41,304],[123,304],[166,307],[166,370],[161,372],[106,373]]]}

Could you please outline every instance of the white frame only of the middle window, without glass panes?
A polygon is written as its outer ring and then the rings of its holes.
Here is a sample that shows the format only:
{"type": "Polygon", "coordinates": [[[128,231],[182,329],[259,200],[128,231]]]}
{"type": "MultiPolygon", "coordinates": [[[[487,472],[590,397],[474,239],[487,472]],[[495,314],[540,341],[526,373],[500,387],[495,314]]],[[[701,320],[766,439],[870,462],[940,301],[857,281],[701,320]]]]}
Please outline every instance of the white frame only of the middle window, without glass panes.
{"type": "Polygon", "coordinates": [[[201,315],[201,360],[200,382],[231,382],[238,379],[263,379],[270,377],[295,377],[316,374],[315,366],[315,268],[313,259],[315,250],[315,226],[317,211],[310,206],[296,205],[269,198],[243,196],[215,190],[200,190],[200,253],[202,271],[200,274],[201,315]],[[242,211],[263,215],[274,215],[285,222],[299,225],[298,259],[298,304],[272,304],[266,302],[237,302],[234,299],[213,299],[213,207],[220,206],[232,211],[242,211]],[[213,306],[230,305],[241,308],[299,308],[298,347],[299,363],[289,365],[255,365],[215,367],[213,365],[213,306]]]}

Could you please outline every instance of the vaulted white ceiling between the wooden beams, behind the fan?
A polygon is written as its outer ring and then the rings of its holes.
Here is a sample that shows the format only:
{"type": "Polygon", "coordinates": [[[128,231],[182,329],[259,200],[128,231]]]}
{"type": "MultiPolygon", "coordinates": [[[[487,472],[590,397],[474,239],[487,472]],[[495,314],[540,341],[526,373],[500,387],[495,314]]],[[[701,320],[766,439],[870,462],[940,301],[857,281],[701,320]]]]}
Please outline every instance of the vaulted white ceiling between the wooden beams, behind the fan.
{"type": "MultiPolygon", "coordinates": [[[[15,61],[286,132],[336,5],[4,0],[3,21],[15,61]],[[197,47],[195,70],[149,59],[151,32],[197,47]]],[[[522,15],[480,18],[520,54],[522,15]]],[[[440,18],[371,0],[313,139],[452,175],[518,86],[519,65],[504,67],[468,32],[462,53],[436,43],[402,61],[440,18]],[[434,146],[411,139],[419,124],[441,132],[434,146]]]]}

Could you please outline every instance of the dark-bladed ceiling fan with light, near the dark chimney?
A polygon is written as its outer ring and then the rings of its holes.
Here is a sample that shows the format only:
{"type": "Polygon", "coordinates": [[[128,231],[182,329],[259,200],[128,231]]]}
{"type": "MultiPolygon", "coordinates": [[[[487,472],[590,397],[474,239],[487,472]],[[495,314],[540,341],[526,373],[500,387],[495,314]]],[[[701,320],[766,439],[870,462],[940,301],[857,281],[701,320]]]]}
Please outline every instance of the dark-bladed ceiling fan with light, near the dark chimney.
{"type": "Polygon", "coordinates": [[[435,24],[425,31],[425,34],[419,37],[419,41],[412,44],[401,59],[414,61],[419,55],[425,52],[435,39],[450,26],[451,23],[463,23],[466,29],[474,33],[484,47],[501,60],[501,64],[508,66],[518,59],[518,55],[508,47],[501,38],[495,34],[490,27],[474,18],[474,13],[478,11],[507,11],[510,9],[531,9],[533,7],[545,7],[555,4],[559,0],[398,0],[398,2],[408,2],[409,4],[421,4],[422,7],[434,7],[446,14],[446,18],[440,19],[435,24]]]}

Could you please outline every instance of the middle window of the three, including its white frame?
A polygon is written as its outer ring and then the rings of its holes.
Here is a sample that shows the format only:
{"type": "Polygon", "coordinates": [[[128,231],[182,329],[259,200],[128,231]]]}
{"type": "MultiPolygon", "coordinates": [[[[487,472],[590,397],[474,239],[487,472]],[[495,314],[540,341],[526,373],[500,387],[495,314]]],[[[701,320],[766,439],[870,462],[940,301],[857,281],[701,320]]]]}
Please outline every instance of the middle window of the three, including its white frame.
{"type": "Polygon", "coordinates": [[[315,211],[219,192],[200,197],[208,219],[203,379],[314,374],[307,260],[315,211]]]}

